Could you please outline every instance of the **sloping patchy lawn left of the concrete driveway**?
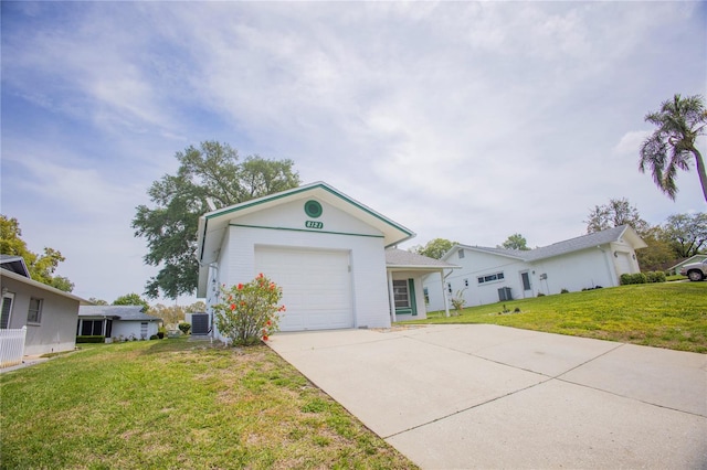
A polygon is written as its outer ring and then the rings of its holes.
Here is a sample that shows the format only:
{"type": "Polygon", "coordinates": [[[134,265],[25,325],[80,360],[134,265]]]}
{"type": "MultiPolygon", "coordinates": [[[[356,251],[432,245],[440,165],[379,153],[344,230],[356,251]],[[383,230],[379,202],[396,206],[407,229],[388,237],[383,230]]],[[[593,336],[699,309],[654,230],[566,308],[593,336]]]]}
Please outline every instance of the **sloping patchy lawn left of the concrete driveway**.
{"type": "Polygon", "coordinates": [[[1,468],[414,468],[264,345],[92,344],[0,403],[1,468]]]}

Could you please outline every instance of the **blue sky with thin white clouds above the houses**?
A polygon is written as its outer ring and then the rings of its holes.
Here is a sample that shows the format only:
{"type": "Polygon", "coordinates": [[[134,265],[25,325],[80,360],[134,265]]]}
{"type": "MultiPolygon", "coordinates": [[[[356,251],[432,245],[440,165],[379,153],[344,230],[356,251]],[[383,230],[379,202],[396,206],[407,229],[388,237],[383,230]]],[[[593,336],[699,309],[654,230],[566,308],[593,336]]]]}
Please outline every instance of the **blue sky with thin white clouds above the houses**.
{"type": "Polygon", "coordinates": [[[294,160],[413,229],[403,248],[544,246],[612,197],[652,224],[706,210],[694,170],[676,202],[637,171],[645,114],[707,95],[704,2],[1,9],[1,212],[84,298],[143,292],[135,207],[203,140],[294,160]]]}

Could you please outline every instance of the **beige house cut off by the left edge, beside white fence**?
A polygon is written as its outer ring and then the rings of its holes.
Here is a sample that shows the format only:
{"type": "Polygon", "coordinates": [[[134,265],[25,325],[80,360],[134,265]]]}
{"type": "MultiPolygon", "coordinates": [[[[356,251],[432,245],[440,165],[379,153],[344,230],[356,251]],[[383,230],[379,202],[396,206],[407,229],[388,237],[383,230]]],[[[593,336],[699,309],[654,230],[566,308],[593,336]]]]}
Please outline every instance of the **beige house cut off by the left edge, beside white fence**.
{"type": "Polygon", "coordinates": [[[24,355],[73,350],[78,307],[88,301],[33,280],[20,256],[0,255],[0,328],[27,325],[24,355]]]}

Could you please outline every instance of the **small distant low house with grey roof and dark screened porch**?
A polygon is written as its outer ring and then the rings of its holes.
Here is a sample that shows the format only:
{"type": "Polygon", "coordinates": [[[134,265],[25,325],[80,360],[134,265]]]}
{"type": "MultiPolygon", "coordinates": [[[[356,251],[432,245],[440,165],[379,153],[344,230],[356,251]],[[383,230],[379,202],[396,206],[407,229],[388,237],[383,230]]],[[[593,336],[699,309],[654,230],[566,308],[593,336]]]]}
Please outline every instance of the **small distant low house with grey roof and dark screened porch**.
{"type": "Polygon", "coordinates": [[[76,335],[112,339],[149,340],[157,334],[162,319],[143,312],[143,306],[82,306],[76,335]]]}

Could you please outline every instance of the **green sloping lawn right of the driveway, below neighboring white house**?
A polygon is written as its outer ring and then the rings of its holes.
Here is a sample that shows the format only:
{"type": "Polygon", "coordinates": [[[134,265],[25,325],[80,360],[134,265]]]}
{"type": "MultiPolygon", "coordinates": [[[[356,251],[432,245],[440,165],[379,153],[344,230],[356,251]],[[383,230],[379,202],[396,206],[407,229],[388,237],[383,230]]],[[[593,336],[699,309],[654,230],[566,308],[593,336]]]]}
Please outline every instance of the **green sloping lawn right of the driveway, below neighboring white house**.
{"type": "Polygon", "coordinates": [[[707,282],[642,284],[510,300],[466,308],[458,317],[433,312],[428,320],[404,323],[493,323],[707,353],[707,282]]]}

